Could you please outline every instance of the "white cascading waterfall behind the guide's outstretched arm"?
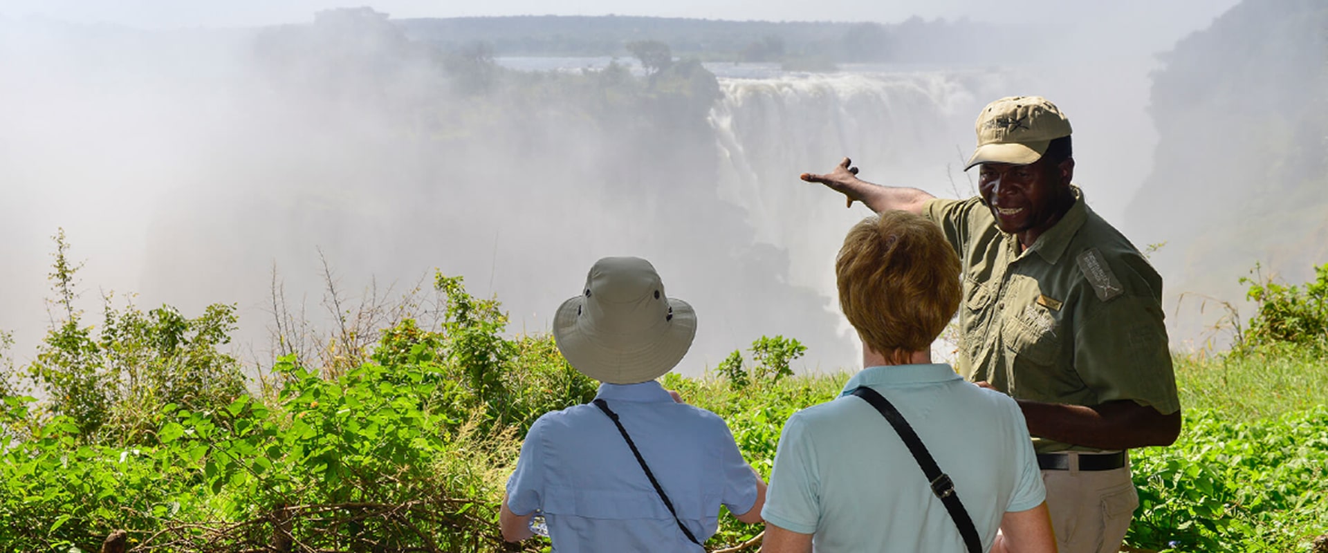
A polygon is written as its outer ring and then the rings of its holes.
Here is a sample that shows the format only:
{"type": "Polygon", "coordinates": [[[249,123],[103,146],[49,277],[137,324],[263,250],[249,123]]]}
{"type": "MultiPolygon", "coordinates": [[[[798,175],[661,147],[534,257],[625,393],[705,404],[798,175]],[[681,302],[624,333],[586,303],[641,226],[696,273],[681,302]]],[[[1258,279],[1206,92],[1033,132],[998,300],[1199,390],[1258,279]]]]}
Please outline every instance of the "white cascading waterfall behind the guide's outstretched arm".
{"type": "MultiPolygon", "coordinates": [[[[999,94],[1003,77],[942,70],[721,78],[724,98],[710,111],[720,198],[745,210],[757,243],[788,253],[789,284],[817,290],[838,313],[834,257],[849,227],[871,212],[861,204],[846,210],[841,195],[798,175],[827,172],[850,156],[866,180],[967,196],[972,186],[961,170],[973,114],[999,94]]],[[[842,343],[811,346],[822,363],[857,366],[851,329],[843,322],[839,330],[842,343]]]]}

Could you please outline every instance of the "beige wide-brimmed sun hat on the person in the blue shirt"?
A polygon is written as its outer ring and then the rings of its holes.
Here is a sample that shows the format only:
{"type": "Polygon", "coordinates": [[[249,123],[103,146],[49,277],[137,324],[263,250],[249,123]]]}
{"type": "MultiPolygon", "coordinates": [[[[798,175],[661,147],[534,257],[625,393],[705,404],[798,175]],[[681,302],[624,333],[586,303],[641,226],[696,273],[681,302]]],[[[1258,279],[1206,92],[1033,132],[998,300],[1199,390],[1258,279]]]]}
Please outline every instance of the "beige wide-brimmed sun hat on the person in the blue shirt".
{"type": "Polygon", "coordinates": [[[582,293],[554,314],[554,341],[582,374],[611,385],[653,381],[683,361],[696,337],[696,312],[664,294],[640,257],[604,257],[582,293]]]}

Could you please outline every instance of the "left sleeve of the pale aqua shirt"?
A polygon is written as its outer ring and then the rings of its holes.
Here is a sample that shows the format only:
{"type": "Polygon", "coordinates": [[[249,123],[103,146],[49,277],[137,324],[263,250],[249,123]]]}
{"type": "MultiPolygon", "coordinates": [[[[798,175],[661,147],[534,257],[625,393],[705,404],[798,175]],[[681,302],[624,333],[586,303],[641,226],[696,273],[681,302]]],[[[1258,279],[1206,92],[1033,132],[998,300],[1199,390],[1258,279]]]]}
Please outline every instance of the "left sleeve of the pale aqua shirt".
{"type": "Polygon", "coordinates": [[[786,530],[815,533],[821,522],[821,479],[817,471],[815,444],[795,412],[780,435],[761,517],[786,530]]]}

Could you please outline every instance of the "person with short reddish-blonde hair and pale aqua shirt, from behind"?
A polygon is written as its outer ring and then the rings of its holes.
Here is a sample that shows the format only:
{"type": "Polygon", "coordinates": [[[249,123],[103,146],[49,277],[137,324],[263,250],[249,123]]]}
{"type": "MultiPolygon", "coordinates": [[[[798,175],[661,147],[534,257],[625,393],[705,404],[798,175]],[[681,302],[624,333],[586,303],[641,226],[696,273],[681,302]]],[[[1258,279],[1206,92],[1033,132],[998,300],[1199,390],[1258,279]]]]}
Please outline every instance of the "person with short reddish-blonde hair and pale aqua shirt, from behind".
{"type": "Polygon", "coordinates": [[[1056,552],[1019,406],[931,362],[961,296],[959,259],[936,224],[902,211],[858,223],[835,280],[865,369],[839,398],[785,424],[762,550],[1056,552]],[[871,391],[908,430],[895,430],[871,391]],[[927,475],[910,431],[943,477],[927,475]],[[955,499],[961,513],[948,505],[955,499]]]}

